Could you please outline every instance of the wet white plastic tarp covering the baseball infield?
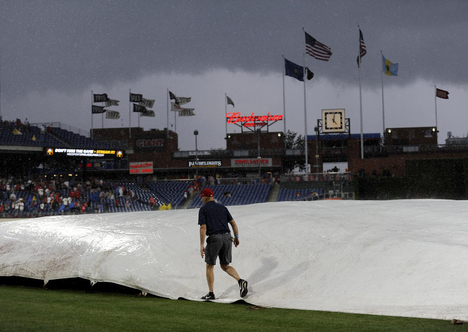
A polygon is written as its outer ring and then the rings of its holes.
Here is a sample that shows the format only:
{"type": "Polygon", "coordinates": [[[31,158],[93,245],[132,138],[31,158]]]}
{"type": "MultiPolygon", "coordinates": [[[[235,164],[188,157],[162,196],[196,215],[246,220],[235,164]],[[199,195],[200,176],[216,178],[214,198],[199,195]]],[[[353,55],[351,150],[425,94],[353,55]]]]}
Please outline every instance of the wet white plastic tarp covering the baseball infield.
{"type": "MultiPolygon", "coordinates": [[[[313,201],[229,207],[248,303],[468,320],[468,201],[313,201]]],[[[198,209],[0,223],[0,275],[82,277],[151,294],[207,293],[198,209]]],[[[219,302],[240,299],[215,268],[219,302]]]]}

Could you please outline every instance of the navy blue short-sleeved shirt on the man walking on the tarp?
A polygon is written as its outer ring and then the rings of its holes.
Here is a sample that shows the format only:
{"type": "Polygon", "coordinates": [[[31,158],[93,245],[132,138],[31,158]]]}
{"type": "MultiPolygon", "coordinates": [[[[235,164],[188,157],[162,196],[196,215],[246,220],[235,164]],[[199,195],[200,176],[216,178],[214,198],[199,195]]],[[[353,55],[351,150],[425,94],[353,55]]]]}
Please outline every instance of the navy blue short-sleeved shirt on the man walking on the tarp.
{"type": "Polygon", "coordinates": [[[206,225],[206,235],[230,232],[228,222],[233,218],[227,207],[209,201],[198,212],[198,225],[206,225]]]}

